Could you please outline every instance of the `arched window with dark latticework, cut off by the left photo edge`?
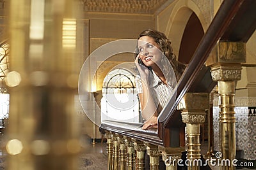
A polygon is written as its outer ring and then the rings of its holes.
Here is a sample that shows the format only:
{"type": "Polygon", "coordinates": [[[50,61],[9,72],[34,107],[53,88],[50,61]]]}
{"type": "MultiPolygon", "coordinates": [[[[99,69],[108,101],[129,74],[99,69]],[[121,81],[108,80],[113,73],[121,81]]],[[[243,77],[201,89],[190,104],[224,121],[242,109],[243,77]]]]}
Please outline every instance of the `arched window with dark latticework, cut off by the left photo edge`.
{"type": "Polygon", "coordinates": [[[9,71],[9,44],[4,41],[0,44],[0,127],[3,129],[9,117],[10,95],[6,88],[5,78],[9,71]]]}

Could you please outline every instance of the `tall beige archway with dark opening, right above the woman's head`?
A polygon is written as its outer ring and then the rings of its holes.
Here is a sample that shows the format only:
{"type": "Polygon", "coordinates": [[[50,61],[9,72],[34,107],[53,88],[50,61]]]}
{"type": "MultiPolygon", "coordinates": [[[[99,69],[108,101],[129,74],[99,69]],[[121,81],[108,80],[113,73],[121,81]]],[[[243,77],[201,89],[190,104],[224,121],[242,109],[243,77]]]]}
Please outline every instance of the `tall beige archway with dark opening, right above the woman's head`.
{"type": "Polygon", "coordinates": [[[205,19],[202,11],[191,0],[180,0],[173,6],[165,33],[172,41],[173,52],[177,55],[178,60],[188,63],[191,59],[196,46],[209,26],[205,19]],[[189,39],[190,36],[193,38],[189,39]],[[195,37],[196,39],[194,39],[195,37]],[[189,41],[187,41],[188,39],[189,41]],[[190,44],[192,45],[189,46],[190,44]],[[180,55],[184,46],[189,46],[189,52],[186,52],[185,49],[185,54],[180,55]]]}

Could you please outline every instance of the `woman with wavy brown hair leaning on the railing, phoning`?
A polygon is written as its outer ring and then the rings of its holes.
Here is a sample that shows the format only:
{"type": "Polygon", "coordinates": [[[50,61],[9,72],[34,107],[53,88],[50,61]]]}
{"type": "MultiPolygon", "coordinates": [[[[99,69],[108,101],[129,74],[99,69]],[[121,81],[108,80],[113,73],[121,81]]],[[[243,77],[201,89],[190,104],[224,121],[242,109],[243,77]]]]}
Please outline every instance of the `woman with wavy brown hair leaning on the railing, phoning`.
{"type": "Polygon", "coordinates": [[[176,60],[168,38],[153,29],[141,32],[136,53],[136,88],[145,119],[142,128],[157,128],[157,117],[186,66],[176,60]]]}

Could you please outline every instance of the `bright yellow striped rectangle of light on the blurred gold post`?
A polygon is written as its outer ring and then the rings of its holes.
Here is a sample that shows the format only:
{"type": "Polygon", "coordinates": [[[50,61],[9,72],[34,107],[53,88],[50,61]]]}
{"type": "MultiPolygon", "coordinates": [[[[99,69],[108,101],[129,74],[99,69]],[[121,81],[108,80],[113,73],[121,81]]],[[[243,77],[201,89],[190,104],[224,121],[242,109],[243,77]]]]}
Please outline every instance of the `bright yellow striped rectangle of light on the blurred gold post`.
{"type": "Polygon", "coordinates": [[[64,18],[62,24],[63,48],[76,48],[76,20],[64,18]]]}

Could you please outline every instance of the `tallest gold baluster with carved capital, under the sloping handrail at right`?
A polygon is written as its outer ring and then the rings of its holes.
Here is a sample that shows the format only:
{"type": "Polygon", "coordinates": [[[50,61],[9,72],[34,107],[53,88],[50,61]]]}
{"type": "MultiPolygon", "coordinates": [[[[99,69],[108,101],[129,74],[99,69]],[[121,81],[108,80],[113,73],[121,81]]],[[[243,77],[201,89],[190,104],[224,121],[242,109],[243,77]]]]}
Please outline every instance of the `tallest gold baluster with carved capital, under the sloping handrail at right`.
{"type": "MultiPolygon", "coordinates": [[[[236,158],[236,81],[241,80],[241,63],[246,62],[246,48],[243,42],[220,41],[212,50],[207,66],[211,66],[212,80],[218,81],[220,107],[221,159],[232,162],[236,158]]],[[[233,164],[224,164],[222,169],[235,169],[233,164]]]]}

